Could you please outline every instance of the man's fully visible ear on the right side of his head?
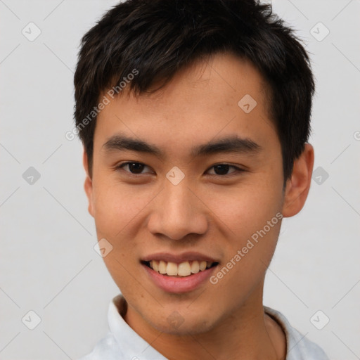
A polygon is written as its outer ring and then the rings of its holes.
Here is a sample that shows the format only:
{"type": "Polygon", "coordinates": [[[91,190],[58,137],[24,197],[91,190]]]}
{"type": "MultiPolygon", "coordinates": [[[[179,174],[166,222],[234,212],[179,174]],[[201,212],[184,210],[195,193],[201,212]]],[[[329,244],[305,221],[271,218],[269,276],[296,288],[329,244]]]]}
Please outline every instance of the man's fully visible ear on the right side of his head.
{"type": "Polygon", "coordinates": [[[314,148],[306,143],[304,151],[294,161],[293,172],[286,182],[283,217],[293,217],[302,210],[309,193],[313,166],[314,148]]]}

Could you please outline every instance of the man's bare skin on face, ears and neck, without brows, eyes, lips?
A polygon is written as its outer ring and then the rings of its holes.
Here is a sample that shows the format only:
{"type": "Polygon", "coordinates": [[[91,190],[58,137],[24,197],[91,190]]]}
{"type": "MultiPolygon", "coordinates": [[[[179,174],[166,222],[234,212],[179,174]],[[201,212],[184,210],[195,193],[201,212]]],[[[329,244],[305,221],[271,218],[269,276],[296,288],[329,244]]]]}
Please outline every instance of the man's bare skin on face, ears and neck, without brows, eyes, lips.
{"type": "Polygon", "coordinates": [[[84,153],[89,212],[98,239],[113,245],[104,261],[127,300],[124,319],[168,359],[285,359],[285,335],[262,307],[281,221],[215,285],[206,281],[188,293],[166,293],[140,264],[155,252],[191,250],[222,267],[276,213],[300,212],[314,150],[306,144],[284,191],[281,144],[265,89],[247,60],[229,53],[199,60],[154,94],[122,94],[105,106],[94,134],[92,179],[84,153]],[[257,101],[250,113],[238,106],[245,94],[257,101]],[[105,152],[103,144],[119,132],[158,146],[165,158],[105,152]],[[262,150],[191,157],[193,146],[233,134],[252,139],[262,150]],[[146,167],[131,177],[129,167],[115,169],[126,161],[146,167]],[[216,176],[219,163],[245,171],[229,168],[229,174],[216,176]],[[176,186],[166,177],[174,166],[185,175],[176,186]],[[177,328],[167,321],[174,311],[184,320],[177,328]]]}

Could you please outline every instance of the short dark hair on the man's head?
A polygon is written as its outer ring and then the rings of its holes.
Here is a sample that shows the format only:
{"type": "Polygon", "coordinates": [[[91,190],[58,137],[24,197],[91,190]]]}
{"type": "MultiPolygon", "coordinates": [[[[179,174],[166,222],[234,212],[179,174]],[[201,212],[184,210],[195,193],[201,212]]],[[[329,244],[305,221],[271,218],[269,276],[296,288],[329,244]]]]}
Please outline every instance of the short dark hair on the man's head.
{"type": "Polygon", "coordinates": [[[158,82],[164,86],[194,60],[226,51],[250,60],[269,85],[285,184],[309,137],[314,79],[294,30],[272,13],[271,4],[256,0],[128,0],[86,32],[74,77],[74,115],[90,176],[93,110],[102,91],[117,86],[121,94],[118,84],[136,70],[126,88],[143,94],[158,82]]]}

